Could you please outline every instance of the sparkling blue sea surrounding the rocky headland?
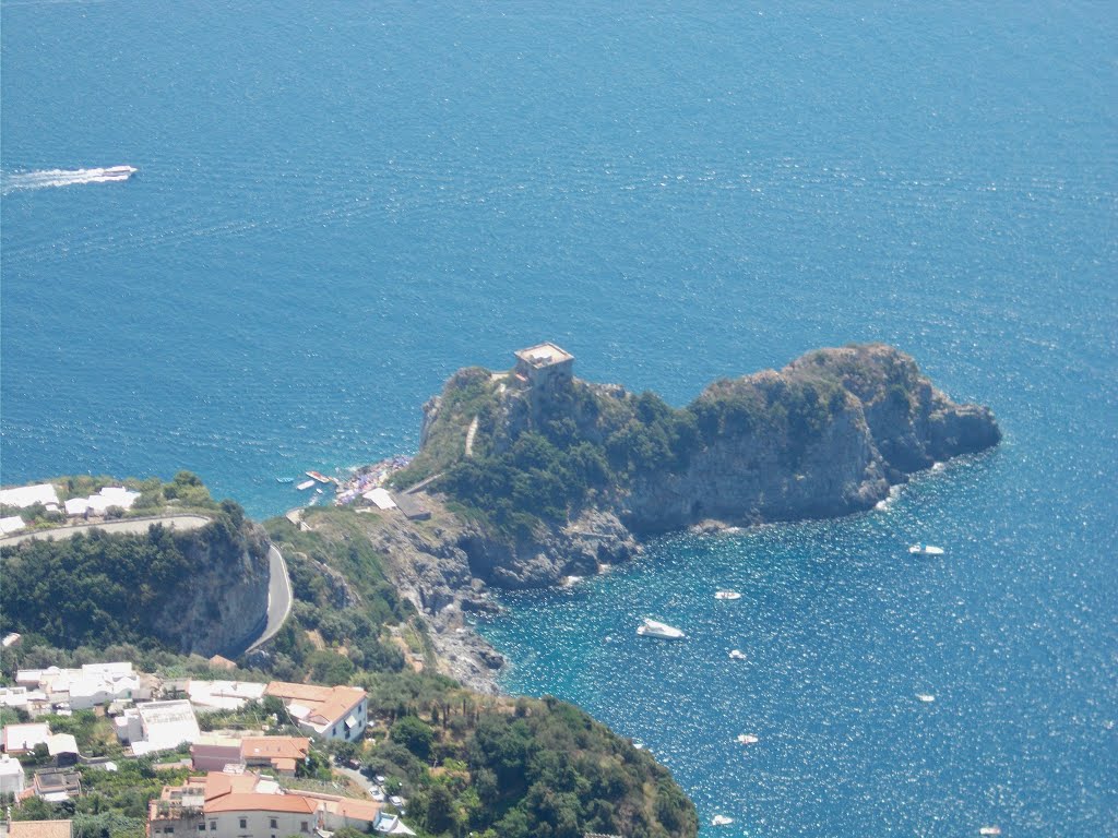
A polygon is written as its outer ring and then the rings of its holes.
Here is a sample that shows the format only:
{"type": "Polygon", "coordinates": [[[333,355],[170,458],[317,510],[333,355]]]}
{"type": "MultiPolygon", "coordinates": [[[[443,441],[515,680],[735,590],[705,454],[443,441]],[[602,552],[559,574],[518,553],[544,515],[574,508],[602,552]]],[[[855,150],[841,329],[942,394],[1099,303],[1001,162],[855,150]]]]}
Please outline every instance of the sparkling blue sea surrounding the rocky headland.
{"type": "Polygon", "coordinates": [[[508,596],[505,686],[644,743],[704,838],[1118,834],[1111,3],[13,0],[0,70],[4,484],[267,516],[541,340],[676,404],[893,343],[1003,444],[508,596]]]}

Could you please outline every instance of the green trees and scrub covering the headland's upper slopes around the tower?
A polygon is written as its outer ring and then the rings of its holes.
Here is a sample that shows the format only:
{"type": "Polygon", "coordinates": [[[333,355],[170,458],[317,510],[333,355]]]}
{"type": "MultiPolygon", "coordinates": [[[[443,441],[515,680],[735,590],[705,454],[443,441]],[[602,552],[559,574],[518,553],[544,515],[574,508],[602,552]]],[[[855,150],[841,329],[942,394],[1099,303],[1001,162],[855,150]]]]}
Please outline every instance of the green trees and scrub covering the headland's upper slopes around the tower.
{"type": "Polygon", "coordinates": [[[608,503],[642,475],[679,474],[730,434],[776,435],[794,466],[845,403],[837,381],[819,373],[718,381],[684,408],[652,392],[574,380],[529,418],[527,409],[518,416],[525,397],[482,372],[466,370],[447,382],[427,441],[398,480],[442,473],[437,488],[506,534],[608,503]],[[466,457],[465,426],[475,418],[473,456],[466,457]]]}

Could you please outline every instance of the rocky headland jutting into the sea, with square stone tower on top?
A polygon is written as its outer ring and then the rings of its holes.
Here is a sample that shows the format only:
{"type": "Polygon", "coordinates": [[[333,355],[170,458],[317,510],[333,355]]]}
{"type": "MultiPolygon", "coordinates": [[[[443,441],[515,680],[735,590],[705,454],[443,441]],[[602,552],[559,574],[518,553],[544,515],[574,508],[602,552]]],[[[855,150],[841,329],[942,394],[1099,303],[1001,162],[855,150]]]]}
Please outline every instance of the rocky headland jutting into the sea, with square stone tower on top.
{"type": "Polygon", "coordinates": [[[869,510],[909,475],[1001,439],[988,408],[951,401],[881,344],[720,380],[681,409],[581,381],[551,344],[518,359],[461,370],[424,406],[420,451],[396,484],[429,520],[357,516],[448,674],[490,692],[501,658],[466,619],[494,608],[490,587],[594,574],[672,530],[869,510]]]}

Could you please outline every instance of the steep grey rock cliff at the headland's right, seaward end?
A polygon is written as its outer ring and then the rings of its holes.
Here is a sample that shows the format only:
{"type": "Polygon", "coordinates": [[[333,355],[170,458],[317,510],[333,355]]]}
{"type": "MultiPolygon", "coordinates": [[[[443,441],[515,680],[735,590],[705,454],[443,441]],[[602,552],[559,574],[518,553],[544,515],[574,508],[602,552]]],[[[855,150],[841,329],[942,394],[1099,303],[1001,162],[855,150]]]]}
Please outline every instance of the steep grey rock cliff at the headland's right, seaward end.
{"type": "Polygon", "coordinates": [[[770,416],[727,423],[679,474],[639,475],[620,506],[635,530],[858,512],[909,474],[1001,439],[988,408],[954,403],[911,358],[884,345],[813,352],[780,372],[723,383],[695,404],[704,399],[752,399],[770,416]],[[817,416],[799,428],[781,416],[793,392],[817,397],[817,416]]]}

